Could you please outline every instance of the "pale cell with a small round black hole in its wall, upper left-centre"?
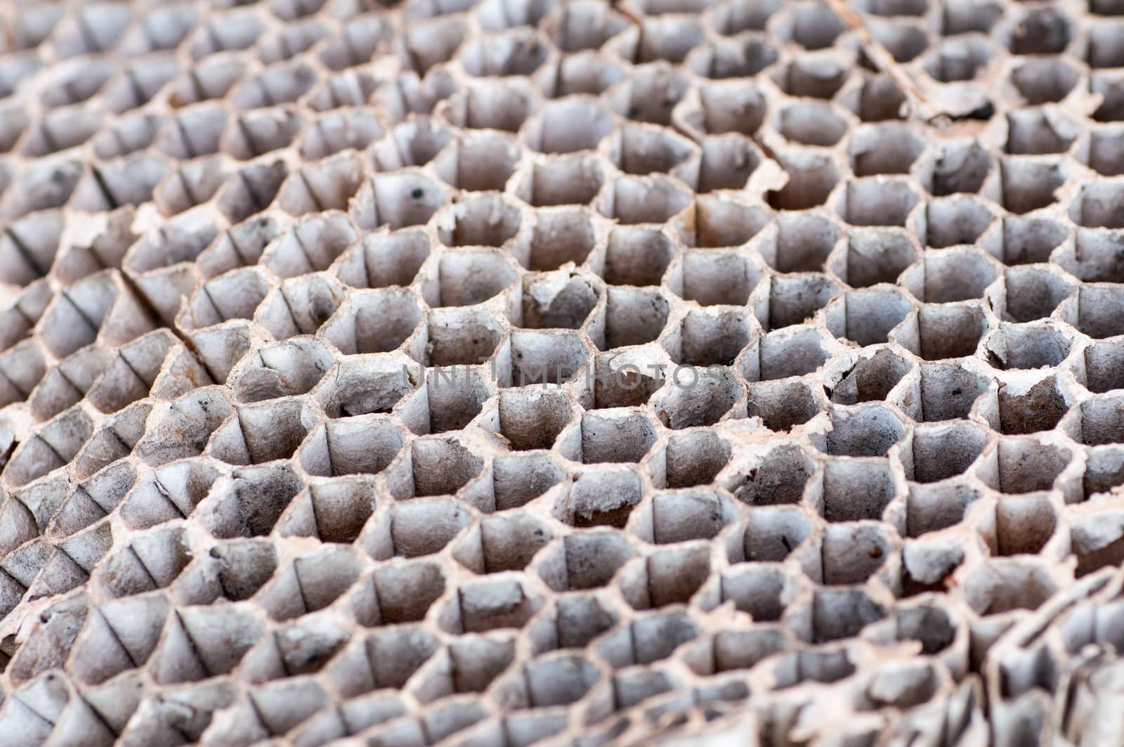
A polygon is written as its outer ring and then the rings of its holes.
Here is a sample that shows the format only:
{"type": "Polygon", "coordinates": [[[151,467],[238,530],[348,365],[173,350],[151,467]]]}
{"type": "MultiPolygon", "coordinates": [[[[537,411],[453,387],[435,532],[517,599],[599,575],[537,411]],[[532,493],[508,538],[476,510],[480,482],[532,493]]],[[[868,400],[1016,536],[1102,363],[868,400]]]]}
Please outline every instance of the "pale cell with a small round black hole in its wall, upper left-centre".
{"type": "Polygon", "coordinates": [[[379,174],[359,188],[351,201],[351,216],[360,228],[391,231],[427,223],[445,202],[445,192],[417,171],[379,174]]]}

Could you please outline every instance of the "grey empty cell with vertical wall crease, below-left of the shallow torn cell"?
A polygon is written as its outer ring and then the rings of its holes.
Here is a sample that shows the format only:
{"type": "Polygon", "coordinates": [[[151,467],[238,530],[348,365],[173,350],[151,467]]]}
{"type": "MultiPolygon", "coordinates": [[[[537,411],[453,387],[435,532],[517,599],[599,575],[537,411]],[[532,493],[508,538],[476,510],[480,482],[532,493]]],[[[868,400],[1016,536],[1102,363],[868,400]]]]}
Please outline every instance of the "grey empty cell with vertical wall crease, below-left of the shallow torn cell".
{"type": "Polygon", "coordinates": [[[301,422],[301,410],[297,398],[245,405],[215,432],[210,452],[230,465],[288,459],[308,433],[301,422]]]}

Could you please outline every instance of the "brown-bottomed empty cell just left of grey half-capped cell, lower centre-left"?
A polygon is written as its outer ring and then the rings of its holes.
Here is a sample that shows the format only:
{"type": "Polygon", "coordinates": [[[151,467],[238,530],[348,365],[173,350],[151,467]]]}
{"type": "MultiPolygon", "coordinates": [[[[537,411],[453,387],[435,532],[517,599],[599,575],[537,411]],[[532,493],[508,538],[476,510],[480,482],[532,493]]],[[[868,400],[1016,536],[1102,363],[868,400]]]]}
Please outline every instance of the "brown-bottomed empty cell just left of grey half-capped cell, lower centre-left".
{"type": "Polygon", "coordinates": [[[352,610],[369,628],[420,622],[444,592],[445,574],[437,564],[391,560],[374,569],[370,585],[361,584],[352,610]]]}

